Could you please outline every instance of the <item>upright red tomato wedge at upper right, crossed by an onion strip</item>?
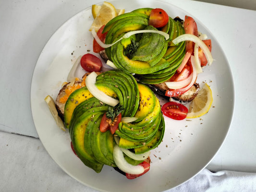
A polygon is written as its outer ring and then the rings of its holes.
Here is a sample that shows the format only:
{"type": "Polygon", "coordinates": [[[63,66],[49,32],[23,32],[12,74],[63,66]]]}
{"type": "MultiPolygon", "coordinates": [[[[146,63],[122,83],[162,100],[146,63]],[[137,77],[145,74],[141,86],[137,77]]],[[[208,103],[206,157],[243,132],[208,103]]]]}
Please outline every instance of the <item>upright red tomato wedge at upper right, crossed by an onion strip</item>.
{"type": "MultiPolygon", "coordinates": [[[[197,24],[195,23],[195,20],[190,16],[185,16],[184,20],[184,30],[185,34],[194,34],[198,36],[197,31],[197,24]]],[[[194,51],[194,42],[187,41],[186,42],[186,51],[194,51]]]]}

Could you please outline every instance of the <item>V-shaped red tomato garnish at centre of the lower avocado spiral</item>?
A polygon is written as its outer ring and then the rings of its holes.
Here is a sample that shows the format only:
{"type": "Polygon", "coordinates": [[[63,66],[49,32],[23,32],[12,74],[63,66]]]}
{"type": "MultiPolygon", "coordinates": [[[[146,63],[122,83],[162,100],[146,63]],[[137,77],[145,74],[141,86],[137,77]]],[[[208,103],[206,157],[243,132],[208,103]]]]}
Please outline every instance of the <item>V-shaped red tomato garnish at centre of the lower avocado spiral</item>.
{"type": "Polygon", "coordinates": [[[122,114],[119,113],[114,120],[112,121],[110,118],[107,118],[106,113],[104,113],[100,125],[99,125],[99,130],[104,133],[108,130],[110,130],[111,134],[113,135],[115,131],[118,128],[118,124],[121,122],[122,119],[122,114]]]}

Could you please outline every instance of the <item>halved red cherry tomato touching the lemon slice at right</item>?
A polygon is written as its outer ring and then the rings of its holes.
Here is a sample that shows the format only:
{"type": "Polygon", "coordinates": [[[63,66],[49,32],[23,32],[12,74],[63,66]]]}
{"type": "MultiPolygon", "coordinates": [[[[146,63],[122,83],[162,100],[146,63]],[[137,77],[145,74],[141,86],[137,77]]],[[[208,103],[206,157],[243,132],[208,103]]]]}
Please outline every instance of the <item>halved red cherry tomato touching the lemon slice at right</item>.
{"type": "Polygon", "coordinates": [[[186,118],[188,109],[178,102],[167,102],[162,106],[162,112],[165,116],[175,120],[183,120],[186,118]]]}

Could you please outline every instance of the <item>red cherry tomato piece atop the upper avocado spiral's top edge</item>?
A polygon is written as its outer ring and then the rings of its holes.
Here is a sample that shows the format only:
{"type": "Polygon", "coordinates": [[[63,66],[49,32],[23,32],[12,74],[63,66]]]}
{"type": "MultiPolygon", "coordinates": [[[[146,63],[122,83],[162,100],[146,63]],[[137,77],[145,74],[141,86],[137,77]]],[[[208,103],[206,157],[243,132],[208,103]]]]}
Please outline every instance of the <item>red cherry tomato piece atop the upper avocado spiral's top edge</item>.
{"type": "Polygon", "coordinates": [[[164,10],[157,8],[150,12],[148,25],[159,28],[165,26],[168,21],[168,14],[164,10]]]}

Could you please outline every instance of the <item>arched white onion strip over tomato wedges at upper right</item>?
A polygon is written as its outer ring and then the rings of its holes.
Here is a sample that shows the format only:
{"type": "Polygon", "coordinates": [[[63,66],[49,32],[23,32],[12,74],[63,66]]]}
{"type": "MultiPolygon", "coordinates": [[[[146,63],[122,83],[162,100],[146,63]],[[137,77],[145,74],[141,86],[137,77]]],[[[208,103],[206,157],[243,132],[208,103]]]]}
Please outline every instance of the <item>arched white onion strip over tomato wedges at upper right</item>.
{"type": "Polygon", "coordinates": [[[175,39],[172,40],[172,42],[175,45],[177,45],[178,43],[180,43],[182,41],[193,41],[195,44],[200,46],[202,48],[206,58],[207,58],[208,65],[212,64],[213,58],[212,58],[211,52],[208,49],[207,45],[205,45],[205,43],[200,38],[198,38],[194,34],[182,34],[182,35],[180,35],[180,36],[178,36],[178,37],[176,37],[175,39]]]}

